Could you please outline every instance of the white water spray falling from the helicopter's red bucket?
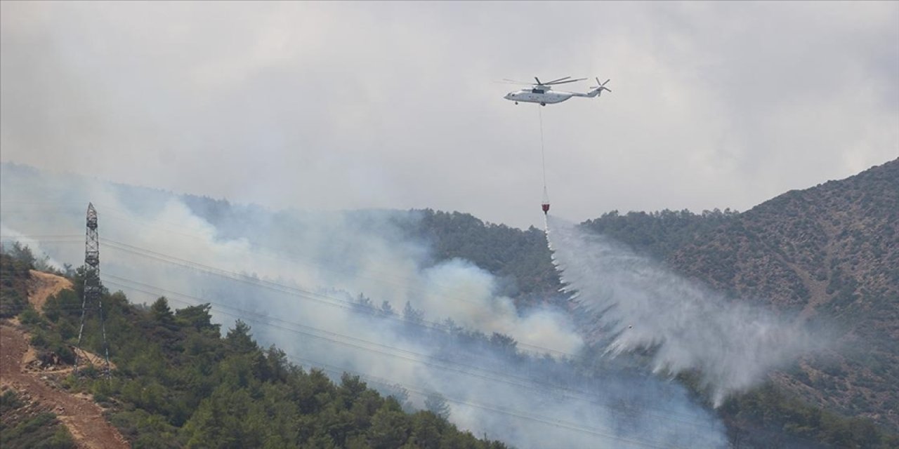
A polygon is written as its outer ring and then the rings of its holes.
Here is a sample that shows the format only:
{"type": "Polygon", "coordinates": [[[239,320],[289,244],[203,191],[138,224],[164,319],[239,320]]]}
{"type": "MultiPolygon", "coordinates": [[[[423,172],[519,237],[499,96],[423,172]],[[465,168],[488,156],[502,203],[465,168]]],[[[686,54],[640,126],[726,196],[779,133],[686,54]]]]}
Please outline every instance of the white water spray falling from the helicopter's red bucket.
{"type": "Polygon", "coordinates": [[[547,228],[565,289],[607,352],[652,348],[654,372],[698,371],[716,407],[826,344],[801,324],[727,301],[608,237],[553,216],[547,228]]]}

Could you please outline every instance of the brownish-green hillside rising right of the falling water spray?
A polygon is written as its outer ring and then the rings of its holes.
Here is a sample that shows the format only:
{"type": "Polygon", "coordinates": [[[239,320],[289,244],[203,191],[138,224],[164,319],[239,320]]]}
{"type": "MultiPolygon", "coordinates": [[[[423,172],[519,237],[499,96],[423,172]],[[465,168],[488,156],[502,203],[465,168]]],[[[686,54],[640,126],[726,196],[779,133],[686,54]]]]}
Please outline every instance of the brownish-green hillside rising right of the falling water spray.
{"type": "Polygon", "coordinates": [[[899,160],[742,214],[611,213],[584,225],[719,291],[836,328],[841,348],[772,379],[899,428],[899,160]]]}

